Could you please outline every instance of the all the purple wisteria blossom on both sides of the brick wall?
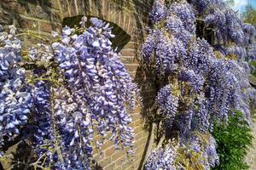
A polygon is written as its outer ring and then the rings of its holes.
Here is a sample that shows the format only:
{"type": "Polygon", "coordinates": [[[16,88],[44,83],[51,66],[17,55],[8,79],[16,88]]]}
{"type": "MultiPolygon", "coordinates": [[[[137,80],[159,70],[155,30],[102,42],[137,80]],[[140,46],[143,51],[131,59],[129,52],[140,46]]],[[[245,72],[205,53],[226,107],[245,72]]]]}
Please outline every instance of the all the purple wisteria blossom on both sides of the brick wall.
{"type": "MultiPolygon", "coordinates": [[[[157,93],[147,113],[153,150],[141,166],[210,170],[221,158],[213,127],[236,111],[251,123],[256,30],[223,0],[154,0],[149,18],[140,64],[153,69],[157,93]]],[[[32,148],[17,161],[26,168],[93,169],[106,139],[134,156],[140,91],[113,49],[110,24],[84,16],[79,25],[50,38],[0,26],[1,160],[16,139],[32,148]],[[40,43],[23,47],[24,35],[40,43]]]]}

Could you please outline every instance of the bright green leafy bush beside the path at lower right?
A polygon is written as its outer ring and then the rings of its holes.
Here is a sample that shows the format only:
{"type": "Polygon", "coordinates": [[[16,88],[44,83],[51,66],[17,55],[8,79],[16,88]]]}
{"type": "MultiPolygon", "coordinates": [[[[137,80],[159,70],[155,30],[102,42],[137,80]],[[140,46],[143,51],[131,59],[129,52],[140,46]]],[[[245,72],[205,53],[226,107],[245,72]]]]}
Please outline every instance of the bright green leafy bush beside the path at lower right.
{"type": "Polygon", "coordinates": [[[244,159],[247,156],[248,147],[252,145],[253,135],[241,111],[236,111],[236,114],[229,118],[227,125],[216,124],[212,136],[218,144],[217,152],[220,162],[213,169],[248,169],[244,159]]]}

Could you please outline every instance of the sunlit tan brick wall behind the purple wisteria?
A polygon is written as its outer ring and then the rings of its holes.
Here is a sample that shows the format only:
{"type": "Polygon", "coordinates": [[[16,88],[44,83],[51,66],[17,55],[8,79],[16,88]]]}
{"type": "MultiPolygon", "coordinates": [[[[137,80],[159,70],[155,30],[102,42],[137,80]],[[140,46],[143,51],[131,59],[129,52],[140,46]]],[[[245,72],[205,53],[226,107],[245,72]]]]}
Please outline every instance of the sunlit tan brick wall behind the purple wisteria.
{"type": "MultiPolygon", "coordinates": [[[[64,18],[85,14],[111,21],[131,36],[131,41],[121,53],[126,68],[139,84],[143,95],[143,109],[137,107],[131,123],[135,129],[136,157],[133,162],[123,163],[125,151],[114,150],[113,144],[106,141],[103,155],[94,156],[103,169],[137,169],[148,141],[143,116],[147,115],[147,107],[152,104],[156,93],[154,76],[139,65],[137,55],[146,36],[150,6],[151,0],[0,0],[0,24],[3,26],[15,24],[19,30],[29,29],[49,36],[50,31],[61,30],[64,18]]],[[[22,38],[27,46],[34,42],[31,37],[22,38]]]]}

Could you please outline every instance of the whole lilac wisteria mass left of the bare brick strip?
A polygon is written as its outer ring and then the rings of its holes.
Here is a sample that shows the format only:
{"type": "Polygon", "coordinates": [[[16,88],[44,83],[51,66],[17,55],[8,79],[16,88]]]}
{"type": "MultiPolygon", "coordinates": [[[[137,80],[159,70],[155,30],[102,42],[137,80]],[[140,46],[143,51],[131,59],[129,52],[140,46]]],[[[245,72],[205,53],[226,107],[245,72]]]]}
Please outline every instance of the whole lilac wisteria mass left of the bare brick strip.
{"type": "Polygon", "coordinates": [[[108,133],[116,149],[132,152],[137,85],[112,48],[109,24],[91,18],[86,28],[86,20],[61,35],[53,31],[50,43],[29,32],[15,35],[14,26],[1,29],[0,156],[17,134],[38,156],[27,167],[90,169],[92,144],[101,150],[108,133]],[[21,47],[18,37],[26,34],[48,43],[21,47]]]}

